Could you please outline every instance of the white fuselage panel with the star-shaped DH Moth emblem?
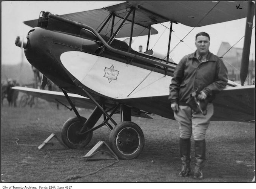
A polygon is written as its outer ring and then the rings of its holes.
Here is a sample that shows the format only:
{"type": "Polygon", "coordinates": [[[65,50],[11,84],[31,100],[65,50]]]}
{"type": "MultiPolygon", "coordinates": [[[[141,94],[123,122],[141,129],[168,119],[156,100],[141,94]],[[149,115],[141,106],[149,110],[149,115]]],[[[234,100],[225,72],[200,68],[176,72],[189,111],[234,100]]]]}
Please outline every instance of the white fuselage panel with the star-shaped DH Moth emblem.
{"type": "Polygon", "coordinates": [[[169,94],[171,76],[89,53],[62,53],[63,66],[83,85],[110,98],[126,99],[169,94]]]}

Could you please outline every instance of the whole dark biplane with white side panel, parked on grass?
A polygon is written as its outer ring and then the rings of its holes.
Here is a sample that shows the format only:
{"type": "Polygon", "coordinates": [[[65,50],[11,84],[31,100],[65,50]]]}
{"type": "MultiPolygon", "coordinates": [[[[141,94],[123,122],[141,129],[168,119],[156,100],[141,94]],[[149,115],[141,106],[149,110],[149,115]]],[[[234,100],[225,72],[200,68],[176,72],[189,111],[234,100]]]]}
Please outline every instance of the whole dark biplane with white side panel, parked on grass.
{"type": "Polygon", "coordinates": [[[23,40],[18,37],[15,44],[24,49],[28,61],[44,75],[42,87],[50,79],[62,92],[14,89],[71,106],[76,117],[64,123],[61,134],[69,148],[86,146],[93,131],[106,126],[111,130],[109,145],[117,156],[133,159],[143,149],[144,136],[139,125],[131,121],[132,116],[151,118],[150,113],[154,113],[174,119],[168,102],[169,85],[177,65],[169,58],[173,24],[199,27],[247,17],[242,85],[228,81],[214,100],[212,120],[254,121],[255,87],[243,86],[248,72],[253,16],[254,3],[245,1],[134,1],[65,15],[43,11],[39,19],[24,22],[33,29],[23,40]],[[239,11],[238,4],[242,8],[239,11]],[[154,53],[148,44],[150,37],[157,34],[153,25],[167,21],[170,36],[165,56],[154,53]],[[133,50],[132,38],[145,35],[148,35],[147,50],[133,50]],[[117,39],[122,37],[130,39],[117,39]],[[93,111],[86,119],[77,107],[93,111]],[[112,118],[113,114],[120,114],[120,122],[112,118]],[[96,125],[101,116],[103,122],[96,125]]]}

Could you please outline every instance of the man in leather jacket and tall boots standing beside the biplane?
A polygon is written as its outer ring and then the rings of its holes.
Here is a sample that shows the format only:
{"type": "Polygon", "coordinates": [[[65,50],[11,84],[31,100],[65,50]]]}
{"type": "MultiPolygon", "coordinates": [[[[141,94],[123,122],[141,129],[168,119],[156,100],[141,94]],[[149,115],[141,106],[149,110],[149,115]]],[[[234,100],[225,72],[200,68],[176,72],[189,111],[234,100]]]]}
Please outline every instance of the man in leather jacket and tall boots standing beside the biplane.
{"type": "Polygon", "coordinates": [[[205,133],[213,115],[211,103],[215,94],[227,85],[227,68],[222,60],[209,52],[210,36],[205,32],[196,35],[196,52],[184,56],[174,70],[170,84],[169,101],[174,117],[179,123],[180,158],[182,170],[179,176],[190,174],[190,137],[193,133],[196,163],[194,179],[202,179],[205,161],[205,133]],[[194,111],[186,103],[196,91],[199,102],[207,104],[207,114],[194,111]]]}

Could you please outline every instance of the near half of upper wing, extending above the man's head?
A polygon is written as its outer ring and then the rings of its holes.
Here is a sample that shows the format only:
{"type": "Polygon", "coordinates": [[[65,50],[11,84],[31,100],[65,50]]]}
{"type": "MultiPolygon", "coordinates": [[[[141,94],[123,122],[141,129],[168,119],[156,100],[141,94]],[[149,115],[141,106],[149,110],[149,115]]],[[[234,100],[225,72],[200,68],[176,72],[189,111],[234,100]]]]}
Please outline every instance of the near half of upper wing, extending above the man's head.
{"type": "Polygon", "coordinates": [[[124,14],[123,10],[128,6],[134,6],[137,8],[135,22],[145,26],[174,21],[186,26],[200,27],[245,18],[248,11],[247,3],[246,1],[134,1],[106,9],[116,14],[124,14]],[[242,9],[237,9],[238,6],[242,9]]]}

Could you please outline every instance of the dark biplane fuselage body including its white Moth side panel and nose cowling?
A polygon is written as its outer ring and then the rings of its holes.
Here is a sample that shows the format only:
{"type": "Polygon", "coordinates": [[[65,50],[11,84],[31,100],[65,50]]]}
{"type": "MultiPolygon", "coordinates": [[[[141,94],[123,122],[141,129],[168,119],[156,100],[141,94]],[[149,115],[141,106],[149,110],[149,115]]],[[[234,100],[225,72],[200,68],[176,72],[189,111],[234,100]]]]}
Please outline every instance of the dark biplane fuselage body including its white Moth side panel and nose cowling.
{"type": "MultiPolygon", "coordinates": [[[[165,75],[164,69],[136,60],[127,64],[127,57],[107,49],[99,55],[100,41],[83,32],[81,37],[35,27],[28,33],[25,55],[32,66],[69,92],[86,96],[74,84],[79,81],[97,100],[104,98],[113,104],[139,105],[138,108],[156,114],[160,112],[152,105],[157,105],[159,109],[166,109],[164,117],[173,118],[167,98],[172,72],[165,75]],[[162,96],[163,101],[157,98],[155,102],[156,96],[162,96]]],[[[128,51],[128,45],[119,40],[114,40],[112,46],[128,51]]]]}

